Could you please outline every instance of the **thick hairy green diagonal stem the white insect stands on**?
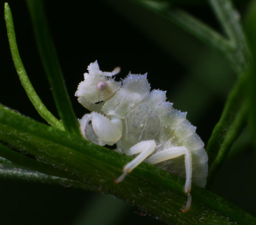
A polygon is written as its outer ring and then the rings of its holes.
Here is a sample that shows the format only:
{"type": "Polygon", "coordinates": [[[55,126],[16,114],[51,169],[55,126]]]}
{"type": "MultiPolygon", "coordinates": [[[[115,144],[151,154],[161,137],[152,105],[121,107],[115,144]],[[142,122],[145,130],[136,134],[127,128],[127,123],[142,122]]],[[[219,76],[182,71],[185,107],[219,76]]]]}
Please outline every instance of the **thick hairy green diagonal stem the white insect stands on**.
{"type": "MultiPolygon", "coordinates": [[[[0,106],[1,107],[1,106],[0,106]]],[[[181,213],[186,197],[184,180],[141,163],[120,184],[113,179],[131,158],[110,149],[88,143],[66,132],[48,127],[9,109],[0,110],[0,139],[25,148],[37,158],[54,164],[72,176],[79,177],[92,190],[111,193],[151,212],[166,223],[175,224],[254,224],[256,218],[217,195],[192,187],[193,203],[181,213]],[[33,148],[30,146],[33,145],[33,148]],[[225,216],[224,216],[225,215],[225,216]],[[227,217],[229,216],[229,218],[227,217]]]]}

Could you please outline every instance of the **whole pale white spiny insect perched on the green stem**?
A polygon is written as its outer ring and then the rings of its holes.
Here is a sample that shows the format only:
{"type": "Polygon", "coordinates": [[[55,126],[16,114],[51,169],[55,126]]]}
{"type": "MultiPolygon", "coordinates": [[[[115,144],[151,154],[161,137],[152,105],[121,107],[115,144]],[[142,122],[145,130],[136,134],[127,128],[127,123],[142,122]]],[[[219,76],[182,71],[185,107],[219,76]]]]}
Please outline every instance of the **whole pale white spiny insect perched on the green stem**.
{"type": "Polygon", "coordinates": [[[88,66],[75,93],[91,111],[80,120],[81,133],[99,145],[116,144],[117,152],[134,157],[117,183],[142,161],[186,178],[188,200],[182,210],[186,212],[191,204],[191,180],[205,187],[208,173],[208,156],[196,127],[186,120],[186,113],[166,102],[166,92],[150,91],[147,74],[129,73],[117,82],[113,76],[119,71],[116,67],[103,72],[97,61],[88,66]]]}

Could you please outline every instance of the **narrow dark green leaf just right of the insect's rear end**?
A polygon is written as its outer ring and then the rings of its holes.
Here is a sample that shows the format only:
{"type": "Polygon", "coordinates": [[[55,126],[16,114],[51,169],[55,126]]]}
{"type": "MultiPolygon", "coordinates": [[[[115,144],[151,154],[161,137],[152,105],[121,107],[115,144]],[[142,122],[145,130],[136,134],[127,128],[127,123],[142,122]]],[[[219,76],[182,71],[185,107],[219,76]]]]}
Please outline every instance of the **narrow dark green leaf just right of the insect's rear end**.
{"type": "Polygon", "coordinates": [[[209,157],[208,187],[223,165],[233,142],[238,138],[246,124],[245,79],[246,76],[241,76],[231,90],[221,118],[208,141],[206,149],[209,157]]]}

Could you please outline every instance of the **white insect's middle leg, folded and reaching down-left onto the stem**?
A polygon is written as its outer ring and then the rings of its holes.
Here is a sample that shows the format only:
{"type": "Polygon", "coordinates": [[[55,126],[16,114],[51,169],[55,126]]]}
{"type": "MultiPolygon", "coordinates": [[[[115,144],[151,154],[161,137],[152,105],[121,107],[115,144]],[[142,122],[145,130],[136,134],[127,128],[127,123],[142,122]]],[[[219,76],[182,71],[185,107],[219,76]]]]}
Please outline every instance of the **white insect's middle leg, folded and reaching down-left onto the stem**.
{"type": "Polygon", "coordinates": [[[138,166],[142,161],[144,161],[148,156],[152,154],[152,152],[156,149],[155,140],[141,141],[136,145],[133,145],[130,149],[128,149],[125,154],[128,156],[132,156],[134,154],[140,153],[135,159],[125,165],[123,171],[124,173],[115,180],[115,183],[120,183],[127,173],[130,173],[136,166],[138,166]]]}

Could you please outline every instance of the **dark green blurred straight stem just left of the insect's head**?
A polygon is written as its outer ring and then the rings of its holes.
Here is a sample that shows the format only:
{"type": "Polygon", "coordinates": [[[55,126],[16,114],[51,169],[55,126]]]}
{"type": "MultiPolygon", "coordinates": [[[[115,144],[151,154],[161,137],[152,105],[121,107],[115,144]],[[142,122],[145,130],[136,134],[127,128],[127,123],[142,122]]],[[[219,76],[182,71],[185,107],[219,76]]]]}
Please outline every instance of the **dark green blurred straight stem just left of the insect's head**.
{"type": "Polygon", "coordinates": [[[47,26],[43,3],[41,0],[27,0],[26,2],[40,57],[52,87],[54,100],[63,126],[69,133],[80,136],[79,123],[68,96],[56,49],[47,26]]]}

